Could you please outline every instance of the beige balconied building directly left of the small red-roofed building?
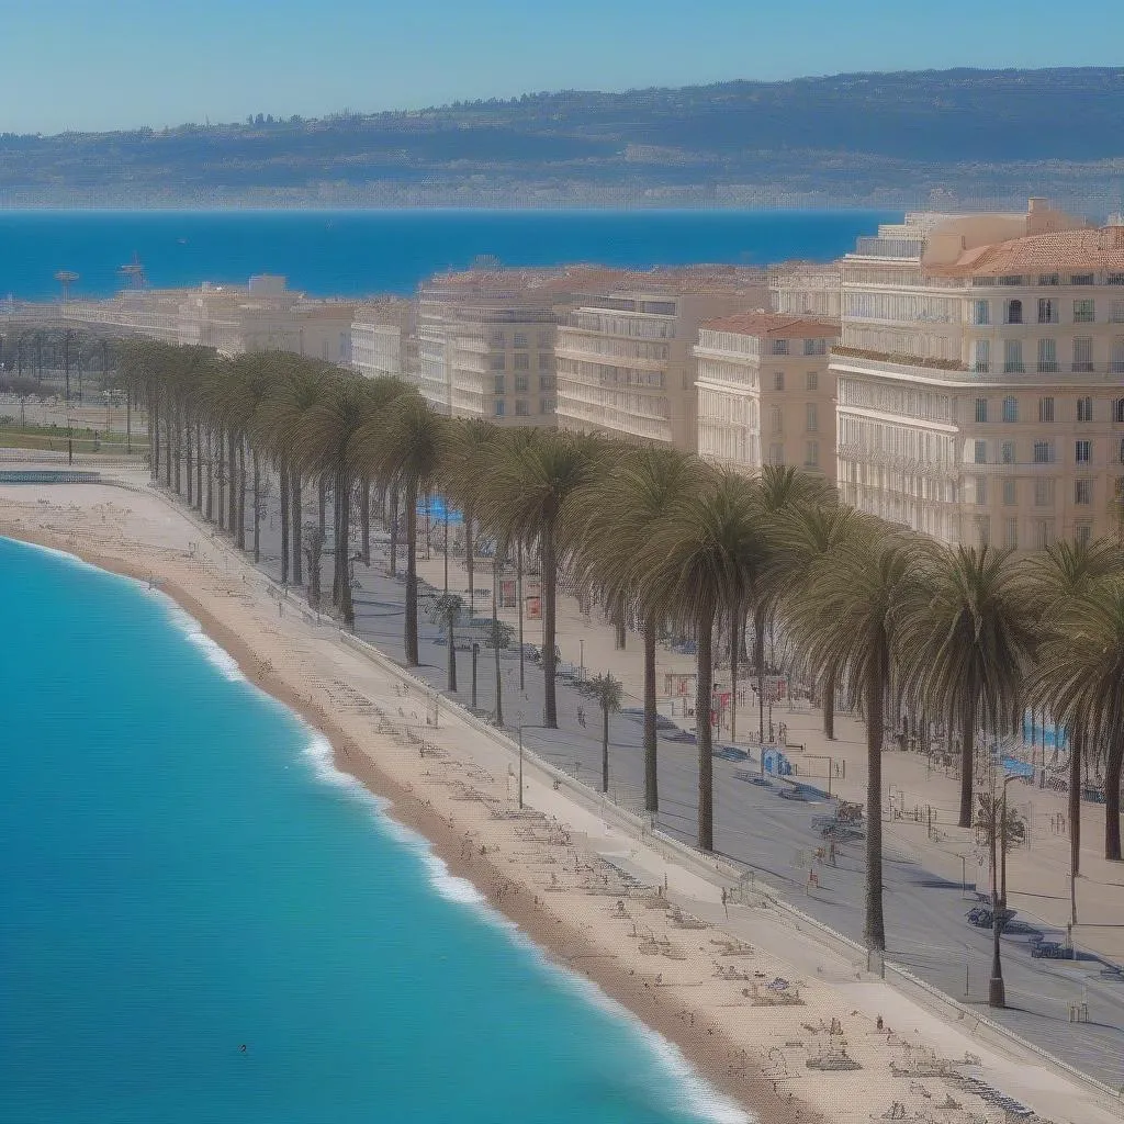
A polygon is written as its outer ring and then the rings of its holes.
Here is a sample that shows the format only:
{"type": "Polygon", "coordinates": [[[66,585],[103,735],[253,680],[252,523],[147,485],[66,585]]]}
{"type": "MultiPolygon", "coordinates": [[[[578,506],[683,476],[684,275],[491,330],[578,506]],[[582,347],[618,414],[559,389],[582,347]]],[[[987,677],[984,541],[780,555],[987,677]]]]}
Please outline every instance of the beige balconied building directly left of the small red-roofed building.
{"type": "Polygon", "coordinates": [[[767,300],[763,271],[735,266],[633,273],[579,294],[559,326],[559,425],[695,452],[699,325],[767,300]]]}

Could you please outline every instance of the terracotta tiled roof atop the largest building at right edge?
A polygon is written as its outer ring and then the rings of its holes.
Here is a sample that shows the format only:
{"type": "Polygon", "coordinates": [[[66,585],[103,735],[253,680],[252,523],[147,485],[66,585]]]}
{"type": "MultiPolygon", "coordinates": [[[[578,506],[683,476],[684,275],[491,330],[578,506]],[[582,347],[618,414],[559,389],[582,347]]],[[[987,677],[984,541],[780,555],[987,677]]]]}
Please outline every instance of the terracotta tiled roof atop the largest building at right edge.
{"type": "Polygon", "coordinates": [[[1124,227],[1034,234],[966,251],[946,265],[927,265],[934,277],[1018,277],[1024,273],[1124,272],[1124,227]]]}

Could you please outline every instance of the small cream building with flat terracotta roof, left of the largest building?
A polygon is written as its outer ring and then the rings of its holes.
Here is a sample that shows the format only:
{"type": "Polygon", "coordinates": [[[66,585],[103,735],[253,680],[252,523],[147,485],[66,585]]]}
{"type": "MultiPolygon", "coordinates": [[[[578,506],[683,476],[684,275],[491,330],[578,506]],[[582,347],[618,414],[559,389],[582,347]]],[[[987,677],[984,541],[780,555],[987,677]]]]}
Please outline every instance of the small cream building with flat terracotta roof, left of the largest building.
{"type": "Polygon", "coordinates": [[[698,453],[754,475],[791,464],[835,480],[840,327],[782,312],[741,312],[699,327],[698,453]]]}

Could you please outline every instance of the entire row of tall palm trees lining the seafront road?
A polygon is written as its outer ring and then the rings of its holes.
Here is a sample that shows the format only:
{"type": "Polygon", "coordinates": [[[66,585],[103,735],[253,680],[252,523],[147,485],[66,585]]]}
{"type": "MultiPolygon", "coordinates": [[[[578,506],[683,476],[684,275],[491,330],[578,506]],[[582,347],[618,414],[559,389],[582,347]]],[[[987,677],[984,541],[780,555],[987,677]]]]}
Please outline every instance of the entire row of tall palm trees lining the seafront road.
{"type": "MultiPolygon", "coordinates": [[[[148,409],[154,479],[260,556],[263,474],[281,499],[282,580],[354,625],[353,513],[370,560],[374,509],[405,523],[405,651],[418,663],[417,509],[441,495],[464,515],[465,547],[496,542],[493,579],[513,552],[542,574],[543,723],[558,725],[560,581],[640,623],[644,645],[645,806],[659,809],[656,645],[671,628],[697,645],[698,845],[714,850],[713,688],[717,642],[732,679],[758,679],[764,737],[765,638],[819,685],[834,736],[842,692],[867,727],[865,937],[886,944],[881,895],[881,751],[887,728],[943,722],[959,734],[959,821],[975,812],[976,737],[1019,733],[1030,706],[1068,731],[1072,864],[1079,868],[1081,762],[1104,763],[1105,854],[1121,858],[1124,756],[1124,555],[1115,543],[1059,543],[1030,558],[946,547],[847,508],[822,479],[767,468],[754,479],[663,448],[433,413],[397,379],[366,380],[288,353],[225,359],[202,347],[130,342],[119,369],[148,409]],[[247,460],[250,468],[247,469],[247,460]],[[246,499],[251,495],[247,541],[246,499]],[[303,526],[307,498],[316,518],[303,526]],[[327,534],[332,500],[333,535],[327,534]],[[401,515],[401,519],[399,518],[401,515]],[[302,562],[308,564],[306,577],[302,562]]],[[[469,566],[469,605],[474,604],[469,566]]],[[[734,692],[736,713],[736,691],[734,692]]]]}

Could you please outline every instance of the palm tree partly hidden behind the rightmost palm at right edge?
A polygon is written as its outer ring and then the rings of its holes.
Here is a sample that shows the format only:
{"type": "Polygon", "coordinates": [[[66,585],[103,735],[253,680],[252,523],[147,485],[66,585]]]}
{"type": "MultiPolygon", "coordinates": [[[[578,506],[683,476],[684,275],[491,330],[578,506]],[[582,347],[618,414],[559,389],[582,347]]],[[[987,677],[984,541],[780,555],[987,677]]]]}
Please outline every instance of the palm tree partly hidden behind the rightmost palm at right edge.
{"type": "MultiPolygon", "coordinates": [[[[1034,597],[1034,611],[1048,625],[1059,609],[1080,598],[1090,584],[1107,574],[1124,570],[1120,547],[1108,538],[1091,543],[1061,540],[1051,543],[1028,560],[1028,577],[1034,597]]],[[[1035,677],[1035,681],[1041,680],[1035,677]]],[[[1068,723],[1054,715],[1054,723],[1069,729],[1069,872],[1070,923],[1077,924],[1077,878],[1081,872],[1081,760],[1088,738],[1082,716],[1075,714],[1068,723]]],[[[1045,762],[1043,761],[1043,764],[1045,762]]]]}

